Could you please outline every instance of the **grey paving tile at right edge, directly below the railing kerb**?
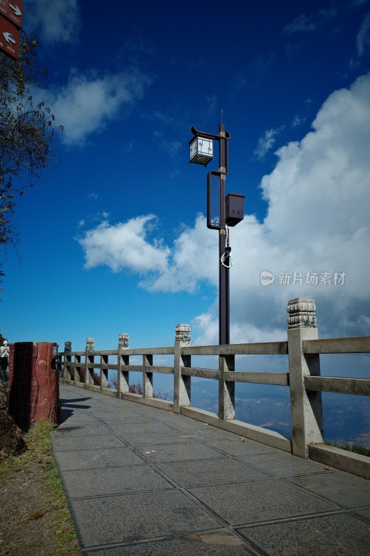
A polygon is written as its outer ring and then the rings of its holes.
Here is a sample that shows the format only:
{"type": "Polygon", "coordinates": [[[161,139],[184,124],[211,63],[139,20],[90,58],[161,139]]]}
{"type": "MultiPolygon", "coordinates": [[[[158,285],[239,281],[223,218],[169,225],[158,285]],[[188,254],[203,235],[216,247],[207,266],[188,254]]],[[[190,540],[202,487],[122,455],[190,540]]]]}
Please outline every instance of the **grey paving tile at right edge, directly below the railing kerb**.
{"type": "Polygon", "coordinates": [[[344,507],[368,506],[370,504],[370,481],[333,470],[322,475],[304,475],[292,477],[289,482],[303,486],[310,492],[325,496],[335,504],[344,507]]]}

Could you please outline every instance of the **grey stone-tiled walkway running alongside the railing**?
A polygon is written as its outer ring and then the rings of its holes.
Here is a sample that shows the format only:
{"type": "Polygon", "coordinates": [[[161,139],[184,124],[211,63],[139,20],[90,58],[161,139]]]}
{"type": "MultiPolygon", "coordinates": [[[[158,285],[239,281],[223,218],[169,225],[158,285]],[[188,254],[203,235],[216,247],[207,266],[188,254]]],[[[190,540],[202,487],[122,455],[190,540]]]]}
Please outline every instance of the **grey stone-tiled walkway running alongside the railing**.
{"type": "Polygon", "coordinates": [[[368,556],[370,481],[60,385],[53,452],[84,556],[368,556]]]}

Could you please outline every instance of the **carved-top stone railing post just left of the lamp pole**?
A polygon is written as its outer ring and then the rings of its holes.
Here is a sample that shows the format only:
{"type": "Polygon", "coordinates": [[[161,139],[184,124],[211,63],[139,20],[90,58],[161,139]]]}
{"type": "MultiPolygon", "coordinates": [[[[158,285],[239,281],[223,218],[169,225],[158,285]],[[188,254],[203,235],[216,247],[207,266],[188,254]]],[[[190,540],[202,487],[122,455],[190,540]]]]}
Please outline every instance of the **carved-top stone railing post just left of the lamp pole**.
{"type": "Polygon", "coordinates": [[[174,411],[180,413],[182,405],[190,405],[192,377],[182,375],[182,367],[191,366],[191,355],[182,355],[181,347],[190,345],[190,326],[176,325],[175,327],[175,357],[174,357],[174,411]]]}

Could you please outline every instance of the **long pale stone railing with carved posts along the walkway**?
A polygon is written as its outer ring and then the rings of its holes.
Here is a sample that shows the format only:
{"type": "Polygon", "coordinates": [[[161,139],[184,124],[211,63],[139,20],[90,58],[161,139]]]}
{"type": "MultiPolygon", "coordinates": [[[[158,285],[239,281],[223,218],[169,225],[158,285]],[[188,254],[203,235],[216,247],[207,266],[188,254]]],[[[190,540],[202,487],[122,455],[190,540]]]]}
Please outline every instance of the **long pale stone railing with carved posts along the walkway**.
{"type": "Polygon", "coordinates": [[[297,298],[289,301],[287,341],[242,343],[230,345],[190,345],[190,326],[177,325],[174,347],[129,349],[128,334],[119,334],[117,350],[96,351],[94,340],[87,338],[83,352],[72,352],[65,343],[59,354],[61,382],[100,391],[123,400],[133,400],[160,409],[167,409],[216,427],[235,432],[248,439],[292,452],[305,459],[314,459],[370,478],[370,459],[345,452],[323,443],[323,411],[321,392],[370,395],[370,379],[323,377],[320,354],[370,352],[370,336],[330,338],[318,336],[314,300],[297,298]],[[258,373],[235,370],[236,355],[288,355],[289,372],[258,373]],[[153,356],[174,357],[174,366],[155,366],[153,356]],[[218,356],[219,368],[192,367],[192,356],[218,356]],[[142,357],[142,365],[131,365],[130,357],[142,357]],[[99,358],[99,361],[96,359],[99,358]],[[112,358],[114,363],[111,362],[112,358]],[[114,371],[117,389],[108,386],[108,371],[114,371]],[[142,395],[129,392],[129,373],[142,373],[142,395]],[[153,373],[174,375],[172,401],[153,397],[153,373]],[[99,386],[94,384],[94,375],[99,386]],[[219,382],[218,415],[192,407],[191,379],[201,377],[219,382]],[[235,420],[235,382],[275,384],[289,387],[292,418],[292,440],[262,427],[235,420]]]}

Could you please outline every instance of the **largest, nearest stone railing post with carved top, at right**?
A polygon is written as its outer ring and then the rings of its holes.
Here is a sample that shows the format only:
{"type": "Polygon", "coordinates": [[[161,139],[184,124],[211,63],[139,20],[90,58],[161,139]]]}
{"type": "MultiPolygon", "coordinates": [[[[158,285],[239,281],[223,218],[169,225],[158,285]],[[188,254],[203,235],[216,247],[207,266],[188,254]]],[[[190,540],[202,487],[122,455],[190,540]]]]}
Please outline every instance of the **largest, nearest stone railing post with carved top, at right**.
{"type": "Polygon", "coordinates": [[[321,392],[305,390],[305,376],[320,375],[319,354],[304,354],[302,342],[319,337],[314,300],[298,297],[287,305],[290,409],[293,455],[308,459],[308,445],[323,442],[321,392]]]}

